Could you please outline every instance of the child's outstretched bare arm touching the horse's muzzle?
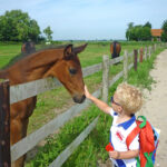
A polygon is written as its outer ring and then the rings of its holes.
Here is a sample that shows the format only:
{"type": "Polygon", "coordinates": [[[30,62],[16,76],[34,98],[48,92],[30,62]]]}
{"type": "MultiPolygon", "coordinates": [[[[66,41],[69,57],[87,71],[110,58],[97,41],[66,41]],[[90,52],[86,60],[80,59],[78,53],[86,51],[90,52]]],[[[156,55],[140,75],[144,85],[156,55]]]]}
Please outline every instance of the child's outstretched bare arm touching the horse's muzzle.
{"type": "Polygon", "coordinates": [[[100,110],[102,110],[106,114],[110,114],[111,107],[109,107],[106,102],[97,99],[94,97],[89,91],[87,86],[85,86],[85,95],[88,99],[90,99],[100,110]]]}

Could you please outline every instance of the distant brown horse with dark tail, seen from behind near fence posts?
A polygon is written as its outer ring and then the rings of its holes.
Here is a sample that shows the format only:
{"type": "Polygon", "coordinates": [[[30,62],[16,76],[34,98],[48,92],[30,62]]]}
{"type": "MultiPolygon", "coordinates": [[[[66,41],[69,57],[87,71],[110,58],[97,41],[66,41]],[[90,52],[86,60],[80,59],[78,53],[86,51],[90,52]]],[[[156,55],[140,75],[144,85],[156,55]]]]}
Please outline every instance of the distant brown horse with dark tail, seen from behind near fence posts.
{"type": "Polygon", "coordinates": [[[110,45],[110,53],[111,53],[111,58],[117,58],[119,57],[119,53],[121,51],[121,46],[119,42],[117,41],[114,41],[111,45],[110,45]]]}

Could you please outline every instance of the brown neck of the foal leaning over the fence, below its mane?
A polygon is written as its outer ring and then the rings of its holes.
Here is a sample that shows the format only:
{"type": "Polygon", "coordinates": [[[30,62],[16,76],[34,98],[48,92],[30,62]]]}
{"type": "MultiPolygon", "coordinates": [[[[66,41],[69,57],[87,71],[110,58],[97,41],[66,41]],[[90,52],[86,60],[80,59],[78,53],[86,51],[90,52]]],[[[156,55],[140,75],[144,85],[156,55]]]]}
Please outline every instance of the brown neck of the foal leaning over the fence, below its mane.
{"type": "Polygon", "coordinates": [[[61,50],[62,49],[50,49],[26,57],[9,69],[9,77],[14,84],[22,84],[43,78],[45,73],[61,57],[61,50]],[[13,73],[14,78],[12,77],[13,73]]]}

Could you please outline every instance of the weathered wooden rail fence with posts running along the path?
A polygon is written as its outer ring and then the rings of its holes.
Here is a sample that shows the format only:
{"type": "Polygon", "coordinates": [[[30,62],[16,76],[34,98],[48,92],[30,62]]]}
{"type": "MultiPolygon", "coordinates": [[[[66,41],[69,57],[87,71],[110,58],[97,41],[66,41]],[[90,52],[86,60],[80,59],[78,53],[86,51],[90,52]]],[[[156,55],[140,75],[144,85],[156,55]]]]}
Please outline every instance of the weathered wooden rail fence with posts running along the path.
{"type": "MultiPolygon", "coordinates": [[[[128,53],[125,51],[124,56],[116,59],[109,59],[108,56],[104,56],[104,61],[82,69],[84,77],[90,76],[102,69],[102,99],[107,101],[108,99],[108,88],[112,86],[119,78],[124,76],[126,81],[128,78],[128,70],[132,67],[137,70],[137,62],[143,62],[143,59],[148,59],[151,52],[158,47],[154,45],[153,47],[146,47],[145,49],[135,50],[128,53]],[[139,57],[138,57],[139,55],[139,57]],[[134,59],[132,63],[128,65],[128,58],[134,59]],[[111,80],[109,80],[109,67],[124,60],[124,70],[117,73],[111,80]]],[[[30,134],[22,140],[18,141],[10,147],[10,107],[9,104],[14,104],[20,100],[27,99],[29,97],[41,94],[46,90],[60,87],[61,84],[55,78],[39,79],[36,81],[11,86],[9,90],[9,81],[0,82],[0,166],[10,166],[11,161],[17,160],[19,157],[23,156],[30,149],[32,149],[39,141],[48,137],[50,134],[63,126],[73,116],[79,114],[81,110],[87,108],[91,101],[85,100],[81,105],[75,105],[66,112],[59,115],[48,124],[46,124],[40,129],[30,134]],[[3,97],[6,92],[6,97],[3,97]],[[8,97],[8,96],[10,97],[8,97]]],[[[101,95],[101,87],[92,94],[95,97],[99,98],[101,95]]],[[[85,138],[90,134],[90,131],[96,127],[98,117],[50,164],[49,167],[61,166],[72,151],[85,140],[85,138]]]]}

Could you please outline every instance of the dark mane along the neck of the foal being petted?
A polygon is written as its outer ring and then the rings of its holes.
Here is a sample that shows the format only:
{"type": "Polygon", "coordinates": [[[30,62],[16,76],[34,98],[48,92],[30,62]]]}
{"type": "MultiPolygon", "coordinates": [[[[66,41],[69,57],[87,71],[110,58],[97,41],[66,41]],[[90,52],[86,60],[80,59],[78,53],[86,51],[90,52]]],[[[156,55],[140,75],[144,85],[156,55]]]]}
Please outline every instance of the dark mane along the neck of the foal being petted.
{"type": "Polygon", "coordinates": [[[38,48],[35,52],[24,55],[23,52],[17,55],[16,57],[13,57],[6,66],[3,66],[1,68],[1,70],[6,70],[8,68],[10,68],[11,66],[13,66],[14,63],[17,63],[18,61],[33,55],[33,53],[38,53],[40,51],[45,51],[45,50],[49,50],[49,49],[63,49],[67,45],[61,45],[61,46],[56,46],[56,45],[49,45],[49,46],[40,46],[40,48],[38,48]]]}

